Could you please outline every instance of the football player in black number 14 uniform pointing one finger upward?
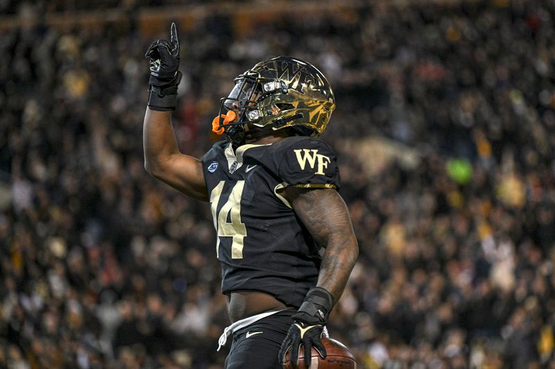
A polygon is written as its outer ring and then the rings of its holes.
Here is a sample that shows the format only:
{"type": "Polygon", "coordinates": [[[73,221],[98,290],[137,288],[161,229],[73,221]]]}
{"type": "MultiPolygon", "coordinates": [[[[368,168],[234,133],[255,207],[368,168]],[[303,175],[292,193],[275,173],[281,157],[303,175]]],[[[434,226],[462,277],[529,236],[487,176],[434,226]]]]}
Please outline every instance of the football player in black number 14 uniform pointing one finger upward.
{"type": "MultiPolygon", "coordinates": [[[[235,78],[212,122],[225,140],[202,159],[178,150],[171,126],[181,79],[175,24],[155,41],[144,118],[145,168],[183,194],[210,201],[233,341],[225,368],[298,363],[321,337],[358,256],[339,196],[336,155],[318,139],[335,107],[314,66],[273,57],[235,78]]],[[[219,348],[218,348],[219,350],[219,348]]]]}

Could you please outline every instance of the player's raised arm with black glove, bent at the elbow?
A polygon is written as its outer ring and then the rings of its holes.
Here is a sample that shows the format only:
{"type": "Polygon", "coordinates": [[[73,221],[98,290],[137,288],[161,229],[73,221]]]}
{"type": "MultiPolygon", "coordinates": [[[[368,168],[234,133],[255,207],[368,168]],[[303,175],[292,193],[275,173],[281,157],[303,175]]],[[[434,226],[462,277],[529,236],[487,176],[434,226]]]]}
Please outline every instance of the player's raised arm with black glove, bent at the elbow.
{"type": "Polygon", "coordinates": [[[144,168],[160,181],[194,199],[207,201],[208,194],[200,160],[181,154],[171,126],[176,109],[179,41],[176,24],[171,24],[170,42],[158,39],[146,51],[150,59],[148,107],[144,116],[144,168]]]}

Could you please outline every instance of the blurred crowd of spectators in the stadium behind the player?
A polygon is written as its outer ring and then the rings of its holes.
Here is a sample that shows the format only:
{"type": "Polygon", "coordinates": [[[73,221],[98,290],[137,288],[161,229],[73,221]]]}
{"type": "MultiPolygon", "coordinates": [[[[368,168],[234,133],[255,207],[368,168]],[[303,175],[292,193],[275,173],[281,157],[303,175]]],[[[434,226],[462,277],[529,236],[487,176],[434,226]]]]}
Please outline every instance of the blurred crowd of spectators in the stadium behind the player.
{"type": "Polygon", "coordinates": [[[555,1],[180,2],[0,1],[0,368],[222,366],[210,210],[143,169],[171,21],[189,154],[254,62],[332,82],[361,368],[555,367],[555,1]]]}

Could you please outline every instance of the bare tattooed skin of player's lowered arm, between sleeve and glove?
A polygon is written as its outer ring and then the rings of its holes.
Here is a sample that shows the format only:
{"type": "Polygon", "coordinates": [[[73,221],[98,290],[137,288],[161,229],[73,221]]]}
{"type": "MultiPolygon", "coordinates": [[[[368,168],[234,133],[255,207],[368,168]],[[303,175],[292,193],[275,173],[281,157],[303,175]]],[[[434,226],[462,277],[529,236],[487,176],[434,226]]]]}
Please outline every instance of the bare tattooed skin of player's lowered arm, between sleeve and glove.
{"type": "Polygon", "coordinates": [[[285,195],[314,240],[325,247],[318,285],[339,300],[359,255],[349,210],[336,190],[288,187],[285,195]]]}

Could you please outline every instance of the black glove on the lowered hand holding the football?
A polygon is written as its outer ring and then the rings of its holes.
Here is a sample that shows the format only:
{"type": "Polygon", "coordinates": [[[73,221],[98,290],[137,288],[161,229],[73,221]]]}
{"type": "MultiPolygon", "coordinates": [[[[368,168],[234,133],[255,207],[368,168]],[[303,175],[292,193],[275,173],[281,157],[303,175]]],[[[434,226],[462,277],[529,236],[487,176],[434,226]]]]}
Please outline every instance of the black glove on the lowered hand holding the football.
{"type": "Polygon", "coordinates": [[[322,334],[333,306],[334,298],[330,292],[320,287],[314,287],[308,291],[297,314],[293,315],[295,321],[289,327],[289,332],[280,348],[281,363],[285,363],[285,354],[291,350],[291,363],[297,366],[300,345],[305,348],[305,368],[310,366],[310,349],[313,347],[325,359],[327,353],[322,344],[322,334]]]}

